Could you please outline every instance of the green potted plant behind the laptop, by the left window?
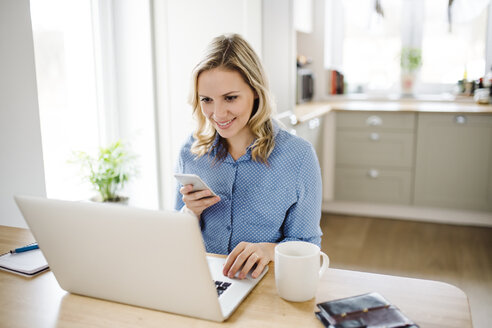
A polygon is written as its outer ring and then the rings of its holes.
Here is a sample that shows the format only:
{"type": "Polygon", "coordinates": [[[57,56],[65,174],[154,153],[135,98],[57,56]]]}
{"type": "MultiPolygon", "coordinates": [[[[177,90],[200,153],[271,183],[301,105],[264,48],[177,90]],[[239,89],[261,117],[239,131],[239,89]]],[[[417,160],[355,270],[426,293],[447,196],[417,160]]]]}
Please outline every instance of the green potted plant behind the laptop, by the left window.
{"type": "Polygon", "coordinates": [[[136,175],[136,157],[121,140],[108,147],[100,147],[96,157],[83,151],[74,152],[74,155],[74,162],[82,166],[84,178],[99,192],[91,200],[128,203],[128,197],[120,195],[120,192],[136,175]]]}

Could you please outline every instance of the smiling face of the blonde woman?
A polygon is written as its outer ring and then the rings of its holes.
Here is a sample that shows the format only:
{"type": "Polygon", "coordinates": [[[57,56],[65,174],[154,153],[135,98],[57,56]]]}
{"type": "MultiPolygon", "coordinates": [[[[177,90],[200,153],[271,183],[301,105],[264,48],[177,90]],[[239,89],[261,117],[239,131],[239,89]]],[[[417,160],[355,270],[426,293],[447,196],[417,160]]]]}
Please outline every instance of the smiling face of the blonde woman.
{"type": "Polygon", "coordinates": [[[241,74],[224,68],[202,72],[198,77],[198,96],[202,113],[229,144],[252,141],[247,123],[255,93],[241,74]]]}

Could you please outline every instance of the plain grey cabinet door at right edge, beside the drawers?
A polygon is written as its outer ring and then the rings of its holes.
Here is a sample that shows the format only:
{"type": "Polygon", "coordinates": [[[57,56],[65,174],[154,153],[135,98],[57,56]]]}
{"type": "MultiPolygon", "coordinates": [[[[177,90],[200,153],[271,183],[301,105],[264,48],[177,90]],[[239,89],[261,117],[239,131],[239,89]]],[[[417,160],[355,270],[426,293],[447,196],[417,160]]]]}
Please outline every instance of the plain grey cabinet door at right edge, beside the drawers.
{"type": "Polygon", "coordinates": [[[415,205],[492,210],[492,115],[419,114],[415,205]]]}

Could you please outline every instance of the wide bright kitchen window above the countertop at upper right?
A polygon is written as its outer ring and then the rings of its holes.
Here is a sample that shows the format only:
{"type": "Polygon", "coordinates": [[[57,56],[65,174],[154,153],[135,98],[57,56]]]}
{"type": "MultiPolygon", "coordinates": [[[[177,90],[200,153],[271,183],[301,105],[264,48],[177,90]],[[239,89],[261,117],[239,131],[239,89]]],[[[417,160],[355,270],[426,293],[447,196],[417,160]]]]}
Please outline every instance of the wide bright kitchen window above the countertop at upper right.
{"type": "Polygon", "coordinates": [[[335,2],[327,0],[327,25],[343,36],[328,45],[325,66],[344,73],[349,92],[398,92],[402,47],[421,49],[419,93],[451,92],[465,70],[468,79],[486,72],[489,0],[453,1],[451,24],[448,0],[335,2]]]}

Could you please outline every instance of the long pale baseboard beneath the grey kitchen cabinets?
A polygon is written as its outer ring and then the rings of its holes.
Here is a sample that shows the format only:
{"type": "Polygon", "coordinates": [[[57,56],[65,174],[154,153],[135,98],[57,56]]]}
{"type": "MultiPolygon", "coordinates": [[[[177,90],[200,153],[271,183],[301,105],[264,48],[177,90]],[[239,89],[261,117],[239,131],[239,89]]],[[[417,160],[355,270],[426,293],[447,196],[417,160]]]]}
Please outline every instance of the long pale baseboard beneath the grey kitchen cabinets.
{"type": "Polygon", "coordinates": [[[322,210],[327,213],[492,227],[492,212],[342,201],[324,201],[322,210]]]}

